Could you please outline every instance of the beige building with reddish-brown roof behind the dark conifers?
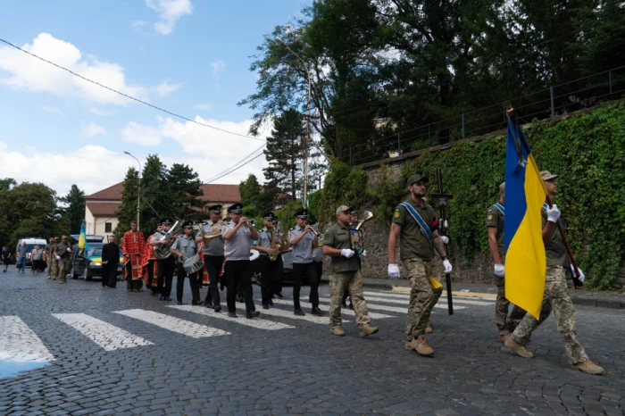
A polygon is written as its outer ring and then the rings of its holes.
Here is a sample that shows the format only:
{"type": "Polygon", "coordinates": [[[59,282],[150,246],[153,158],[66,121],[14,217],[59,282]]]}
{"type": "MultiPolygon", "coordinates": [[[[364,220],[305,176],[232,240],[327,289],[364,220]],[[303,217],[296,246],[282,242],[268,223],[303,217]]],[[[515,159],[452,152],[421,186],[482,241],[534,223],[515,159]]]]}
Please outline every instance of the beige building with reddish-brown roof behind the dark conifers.
{"type": "MultiPolygon", "coordinates": [[[[203,184],[200,188],[204,191],[204,196],[200,196],[202,201],[223,205],[221,207],[222,218],[228,216],[230,205],[241,202],[238,185],[203,184]]],[[[121,205],[123,189],[124,184],[120,182],[95,194],[85,196],[85,232],[87,234],[112,235],[119,222],[115,212],[121,205]]],[[[206,210],[206,219],[208,220],[208,210],[206,210]]]]}

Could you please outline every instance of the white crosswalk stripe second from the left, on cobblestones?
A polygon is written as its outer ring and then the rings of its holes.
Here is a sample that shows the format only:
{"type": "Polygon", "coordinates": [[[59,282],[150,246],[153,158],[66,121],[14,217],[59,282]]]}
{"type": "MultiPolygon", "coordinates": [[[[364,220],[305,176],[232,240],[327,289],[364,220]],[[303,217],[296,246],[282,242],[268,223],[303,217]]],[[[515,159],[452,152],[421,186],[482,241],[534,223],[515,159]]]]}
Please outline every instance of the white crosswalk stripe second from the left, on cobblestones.
{"type": "Polygon", "coordinates": [[[137,337],[124,329],[117,328],[104,322],[104,320],[98,320],[85,313],[53,313],[52,316],[76,329],[106,351],[152,345],[150,341],[142,337],[137,337]]]}

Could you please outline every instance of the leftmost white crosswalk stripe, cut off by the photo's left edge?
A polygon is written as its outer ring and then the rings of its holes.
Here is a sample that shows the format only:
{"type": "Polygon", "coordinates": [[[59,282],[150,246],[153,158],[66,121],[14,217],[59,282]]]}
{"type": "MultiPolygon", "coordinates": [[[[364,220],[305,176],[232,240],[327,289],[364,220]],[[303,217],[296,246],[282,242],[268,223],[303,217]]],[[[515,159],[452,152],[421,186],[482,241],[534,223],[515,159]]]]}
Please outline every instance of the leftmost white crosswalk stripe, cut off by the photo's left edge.
{"type": "Polygon", "coordinates": [[[0,360],[6,362],[51,362],[46,345],[17,316],[0,316],[0,360]]]}

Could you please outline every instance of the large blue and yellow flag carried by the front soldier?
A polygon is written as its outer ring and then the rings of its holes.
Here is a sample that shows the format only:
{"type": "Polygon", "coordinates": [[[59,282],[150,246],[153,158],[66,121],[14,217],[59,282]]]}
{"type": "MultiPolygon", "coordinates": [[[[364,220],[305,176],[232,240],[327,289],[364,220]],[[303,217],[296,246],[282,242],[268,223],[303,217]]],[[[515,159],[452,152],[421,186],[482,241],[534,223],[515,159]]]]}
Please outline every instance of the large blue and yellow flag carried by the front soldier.
{"type": "Polygon", "coordinates": [[[514,114],[505,150],[505,297],[538,319],[546,254],[540,210],[546,188],[514,114]]]}

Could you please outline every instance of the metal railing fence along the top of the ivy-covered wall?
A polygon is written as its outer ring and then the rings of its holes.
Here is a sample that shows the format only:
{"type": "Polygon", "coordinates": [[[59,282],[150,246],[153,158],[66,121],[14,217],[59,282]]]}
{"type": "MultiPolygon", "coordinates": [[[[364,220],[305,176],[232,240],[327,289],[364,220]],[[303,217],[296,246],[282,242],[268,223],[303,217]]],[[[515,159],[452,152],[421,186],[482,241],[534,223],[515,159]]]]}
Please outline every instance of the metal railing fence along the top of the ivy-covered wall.
{"type": "Polygon", "coordinates": [[[504,129],[504,105],[508,103],[517,110],[522,122],[529,122],[591,107],[600,101],[620,98],[624,93],[625,66],[621,66],[391,136],[371,138],[349,147],[342,159],[354,166],[504,129]]]}

